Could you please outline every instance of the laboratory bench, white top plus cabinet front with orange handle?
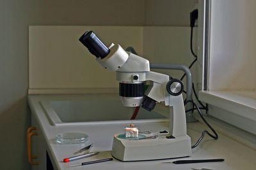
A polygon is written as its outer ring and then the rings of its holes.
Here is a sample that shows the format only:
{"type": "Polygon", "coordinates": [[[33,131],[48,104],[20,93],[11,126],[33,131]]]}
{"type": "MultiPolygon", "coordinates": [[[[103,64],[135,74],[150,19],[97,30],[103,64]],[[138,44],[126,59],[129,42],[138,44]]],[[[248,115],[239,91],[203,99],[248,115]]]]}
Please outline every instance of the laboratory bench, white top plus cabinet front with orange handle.
{"type": "MultiPolygon", "coordinates": [[[[67,98],[68,95],[56,95],[60,99],[67,98]]],[[[79,97],[79,95],[77,95],[79,97]]],[[[225,123],[216,123],[207,117],[212,127],[218,132],[217,140],[210,138],[205,134],[202,142],[192,149],[192,155],[180,159],[166,160],[150,160],[138,162],[121,162],[113,159],[109,162],[100,162],[98,164],[90,164],[86,166],[67,167],[81,162],[91,160],[107,159],[111,156],[111,146],[113,142],[113,134],[124,132],[127,124],[69,124],[69,125],[52,125],[49,117],[45,114],[45,109],[40,101],[51,98],[51,95],[29,95],[29,107],[31,109],[31,132],[35,132],[35,136],[31,137],[31,169],[255,169],[256,168],[256,150],[255,143],[246,143],[241,139],[243,135],[228,134],[227,125],[225,123]],[[222,124],[222,125],[221,125],[222,124]],[[60,144],[56,143],[56,135],[63,132],[80,132],[88,134],[89,140],[81,144],[60,144]],[[63,162],[64,158],[73,157],[84,146],[93,143],[92,152],[100,152],[98,155],[79,159],[72,162],[63,162]],[[33,157],[33,156],[36,156],[33,157]],[[168,162],[182,159],[225,159],[224,162],[207,162],[198,164],[159,164],[159,162],[168,162]],[[38,162],[38,164],[36,164],[38,162]]],[[[72,96],[76,97],[76,96],[72,96]]],[[[99,106],[100,107],[100,106],[99,106]]],[[[199,118],[198,118],[199,119],[199,118]]],[[[218,122],[218,121],[217,121],[218,122]]],[[[139,122],[136,124],[138,129],[152,130],[159,132],[169,129],[169,122],[139,122]]],[[[209,128],[202,122],[188,123],[188,135],[191,137],[191,143],[195,144],[200,138],[202,131],[209,128]]],[[[28,134],[31,132],[28,132],[28,134]]],[[[243,132],[241,132],[243,133],[243,132]]],[[[246,132],[244,132],[246,134],[246,132]]],[[[240,134],[240,132],[239,132],[240,134]]],[[[253,141],[255,136],[251,136],[253,141]]],[[[248,139],[250,141],[250,139],[248,139]]],[[[29,144],[29,143],[28,143],[29,144]]]]}

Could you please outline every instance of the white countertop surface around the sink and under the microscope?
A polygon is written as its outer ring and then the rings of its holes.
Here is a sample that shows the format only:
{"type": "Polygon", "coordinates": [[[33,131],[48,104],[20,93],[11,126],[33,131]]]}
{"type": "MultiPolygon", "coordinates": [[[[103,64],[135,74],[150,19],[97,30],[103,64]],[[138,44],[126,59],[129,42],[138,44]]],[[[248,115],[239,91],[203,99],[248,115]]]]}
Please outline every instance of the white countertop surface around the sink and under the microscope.
{"type": "MultiPolygon", "coordinates": [[[[51,154],[53,160],[52,164],[58,169],[255,169],[256,167],[256,151],[252,148],[230,139],[225,134],[219,134],[219,139],[214,140],[205,135],[200,145],[192,149],[191,157],[182,159],[218,159],[223,158],[225,162],[210,162],[200,164],[159,164],[159,162],[167,162],[181,159],[172,160],[153,160],[143,162],[120,162],[116,159],[110,162],[102,162],[99,164],[90,164],[86,166],[67,167],[72,164],[79,164],[81,162],[87,162],[90,160],[106,159],[111,157],[111,146],[113,141],[113,134],[121,133],[124,131],[124,127],[127,124],[115,124],[115,125],[76,125],[76,126],[53,126],[45,116],[44,110],[39,104],[39,101],[46,99],[67,99],[68,98],[80,98],[81,95],[37,95],[29,96],[29,106],[32,110],[32,114],[35,113],[40,128],[44,133],[44,137],[47,141],[48,152],[51,154]],[[89,135],[89,141],[80,145],[60,145],[55,142],[56,134],[61,132],[81,132],[89,135]],[[89,143],[93,143],[93,151],[99,151],[99,155],[64,163],[63,159],[73,157],[73,153],[83,148],[89,143]]],[[[136,126],[143,131],[143,129],[152,129],[153,132],[159,132],[163,130],[168,131],[168,122],[136,124],[136,126]]],[[[214,127],[214,125],[212,125],[214,127]]],[[[188,124],[188,135],[191,137],[191,143],[194,144],[201,133],[206,129],[204,124],[200,122],[188,124]]],[[[208,128],[207,128],[208,129],[208,128]]]]}

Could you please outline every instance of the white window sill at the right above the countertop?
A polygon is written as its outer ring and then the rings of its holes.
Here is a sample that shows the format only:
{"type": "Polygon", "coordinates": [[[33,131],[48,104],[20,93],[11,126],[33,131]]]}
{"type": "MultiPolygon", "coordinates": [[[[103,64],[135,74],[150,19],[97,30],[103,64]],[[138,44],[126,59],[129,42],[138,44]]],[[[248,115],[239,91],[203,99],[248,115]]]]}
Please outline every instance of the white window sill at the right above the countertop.
{"type": "Polygon", "coordinates": [[[256,134],[256,91],[200,91],[209,114],[256,134]]]}

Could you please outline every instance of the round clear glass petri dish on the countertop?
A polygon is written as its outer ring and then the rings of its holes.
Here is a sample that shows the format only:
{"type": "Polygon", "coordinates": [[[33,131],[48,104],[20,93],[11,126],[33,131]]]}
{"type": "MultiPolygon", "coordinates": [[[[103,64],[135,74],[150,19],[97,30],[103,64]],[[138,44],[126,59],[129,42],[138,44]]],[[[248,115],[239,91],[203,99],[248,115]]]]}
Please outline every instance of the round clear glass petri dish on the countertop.
{"type": "Polygon", "coordinates": [[[56,142],[61,144],[79,144],[88,141],[88,134],[69,132],[56,135],[56,142]]]}

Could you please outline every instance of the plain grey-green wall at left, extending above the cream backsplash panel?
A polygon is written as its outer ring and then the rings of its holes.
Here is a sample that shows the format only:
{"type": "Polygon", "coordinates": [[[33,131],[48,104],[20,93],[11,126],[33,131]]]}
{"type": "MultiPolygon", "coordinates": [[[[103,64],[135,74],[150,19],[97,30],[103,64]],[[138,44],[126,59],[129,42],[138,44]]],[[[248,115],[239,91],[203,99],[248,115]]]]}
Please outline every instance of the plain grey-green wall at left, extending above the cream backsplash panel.
{"type": "Polygon", "coordinates": [[[0,20],[1,169],[29,169],[28,25],[143,25],[144,1],[3,0],[0,20]]]}

